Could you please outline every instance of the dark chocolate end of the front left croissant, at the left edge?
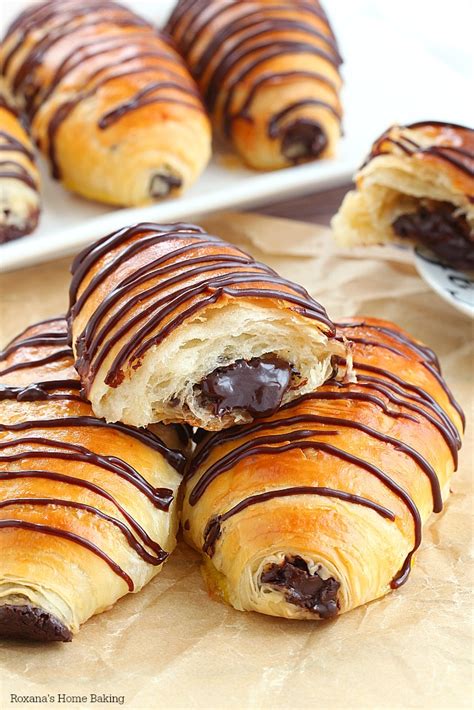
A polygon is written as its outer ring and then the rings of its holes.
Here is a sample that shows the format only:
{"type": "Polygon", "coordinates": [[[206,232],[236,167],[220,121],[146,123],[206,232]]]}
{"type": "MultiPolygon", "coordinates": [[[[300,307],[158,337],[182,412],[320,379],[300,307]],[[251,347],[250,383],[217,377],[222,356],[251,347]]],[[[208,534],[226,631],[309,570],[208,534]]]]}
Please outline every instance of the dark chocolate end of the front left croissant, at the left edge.
{"type": "Polygon", "coordinates": [[[64,624],[43,609],[30,604],[0,605],[0,637],[28,641],[72,641],[64,624]]]}

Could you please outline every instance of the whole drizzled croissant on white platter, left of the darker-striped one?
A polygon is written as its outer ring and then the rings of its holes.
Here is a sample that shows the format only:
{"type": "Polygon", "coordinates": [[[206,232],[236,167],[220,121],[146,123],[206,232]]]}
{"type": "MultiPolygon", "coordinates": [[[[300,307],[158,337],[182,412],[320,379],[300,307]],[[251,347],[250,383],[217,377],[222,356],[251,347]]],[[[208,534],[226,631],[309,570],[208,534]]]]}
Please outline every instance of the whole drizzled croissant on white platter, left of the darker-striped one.
{"type": "Polygon", "coordinates": [[[206,166],[210,127],[169,39],[115,2],[28,7],[1,49],[51,171],[70,190],[114,205],[178,194],[206,166]]]}

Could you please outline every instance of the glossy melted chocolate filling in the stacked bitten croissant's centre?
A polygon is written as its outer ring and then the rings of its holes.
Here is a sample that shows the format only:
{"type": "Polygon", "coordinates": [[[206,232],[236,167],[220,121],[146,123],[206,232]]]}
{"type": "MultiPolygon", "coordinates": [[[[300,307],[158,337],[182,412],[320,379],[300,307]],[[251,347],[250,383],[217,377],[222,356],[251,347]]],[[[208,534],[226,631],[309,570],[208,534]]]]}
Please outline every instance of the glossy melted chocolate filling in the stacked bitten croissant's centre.
{"type": "Polygon", "coordinates": [[[292,373],[291,365],[276,355],[237,360],[208,375],[201,392],[217,416],[240,408],[253,417],[266,417],[280,406],[292,373]]]}

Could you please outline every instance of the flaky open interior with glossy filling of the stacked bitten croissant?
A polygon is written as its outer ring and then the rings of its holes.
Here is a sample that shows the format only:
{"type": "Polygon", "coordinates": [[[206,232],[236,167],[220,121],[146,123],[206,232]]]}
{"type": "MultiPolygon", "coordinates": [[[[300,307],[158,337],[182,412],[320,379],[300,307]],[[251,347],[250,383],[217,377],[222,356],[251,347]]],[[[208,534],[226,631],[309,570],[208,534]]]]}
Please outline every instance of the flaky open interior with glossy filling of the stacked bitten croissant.
{"type": "Polygon", "coordinates": [[[194,421],[211,430],[266,416],[333,372],[344,346],[295,313],[252,303],[207,309],[151,348],[116,388],[96,378],[95,411],[137,426],[194,421]]]}

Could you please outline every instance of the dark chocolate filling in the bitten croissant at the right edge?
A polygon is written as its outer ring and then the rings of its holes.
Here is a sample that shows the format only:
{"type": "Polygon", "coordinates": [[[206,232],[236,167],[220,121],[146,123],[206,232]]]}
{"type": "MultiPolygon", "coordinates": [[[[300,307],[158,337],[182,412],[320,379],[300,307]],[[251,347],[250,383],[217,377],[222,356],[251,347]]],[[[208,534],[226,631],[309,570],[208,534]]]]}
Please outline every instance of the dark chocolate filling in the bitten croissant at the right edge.
{"type": "Polygon", "coordinates": [[[421,205],[417,212],[398,217],[392,226],[399,237],[423,244],[446,264],[474,269],[474,234],[465,217],[454,214],[455,209],[448,202],[421,205]]]}

